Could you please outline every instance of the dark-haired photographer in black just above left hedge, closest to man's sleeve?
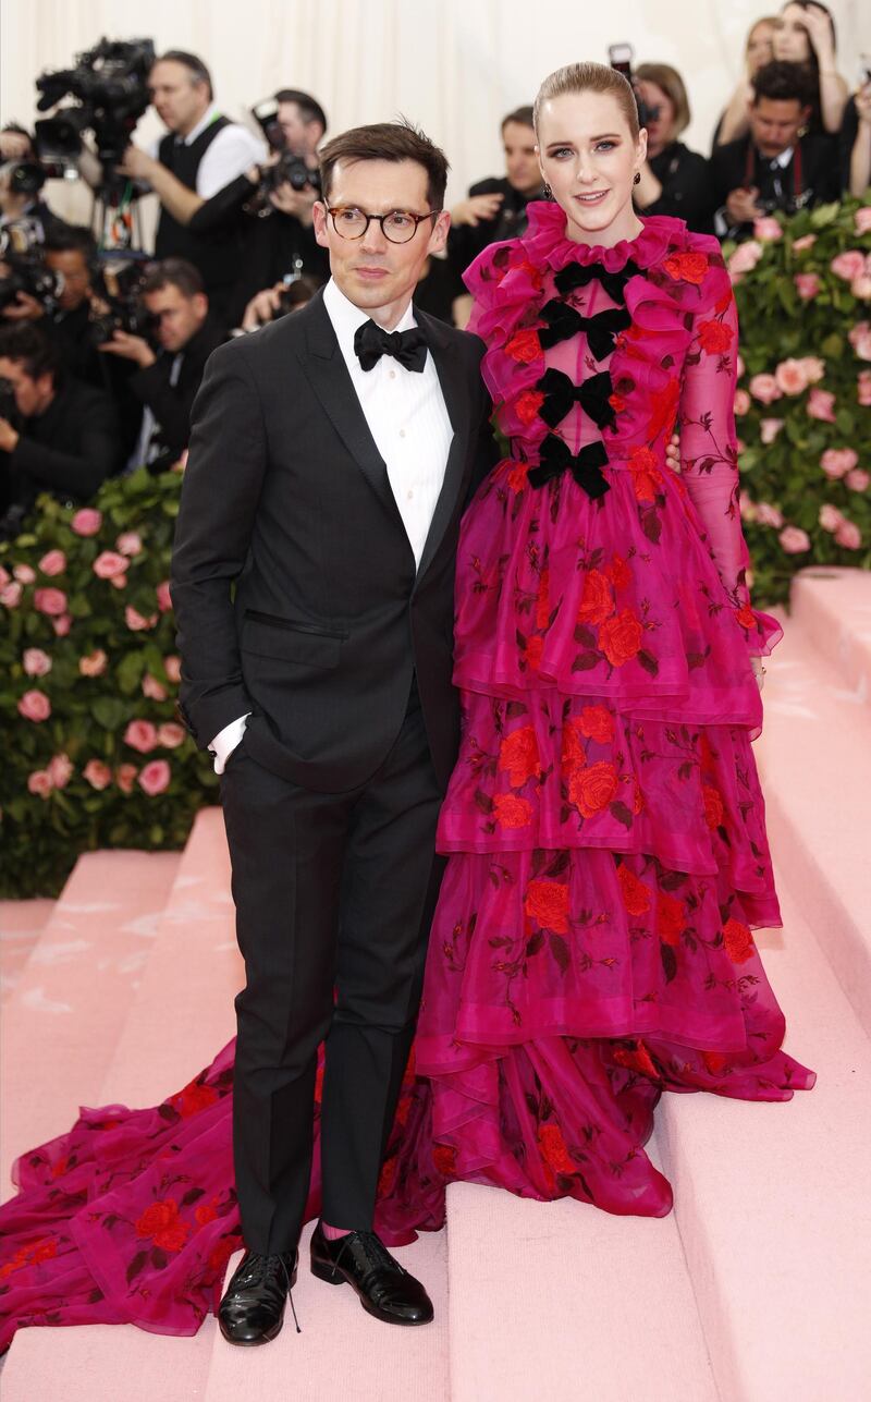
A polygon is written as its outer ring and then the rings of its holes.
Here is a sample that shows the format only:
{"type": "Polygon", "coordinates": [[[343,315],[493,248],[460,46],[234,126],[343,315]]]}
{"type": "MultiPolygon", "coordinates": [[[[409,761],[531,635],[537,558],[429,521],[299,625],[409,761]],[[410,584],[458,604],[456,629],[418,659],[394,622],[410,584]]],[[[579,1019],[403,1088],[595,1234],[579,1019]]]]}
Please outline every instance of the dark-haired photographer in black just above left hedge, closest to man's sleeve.
{"type": "Polygon", "coordinates": [[[227,335],[209,313],[203,280],[192,264],[167,258],[148,272],[141,300],[155,325],[160,349],[144,336],[115,331],[99,349],[139,369],[129,388],[144,405],[136,447],[127,467],[143,463],[169,467],[188,447],[190,409],[206,360],[227,335]]]}

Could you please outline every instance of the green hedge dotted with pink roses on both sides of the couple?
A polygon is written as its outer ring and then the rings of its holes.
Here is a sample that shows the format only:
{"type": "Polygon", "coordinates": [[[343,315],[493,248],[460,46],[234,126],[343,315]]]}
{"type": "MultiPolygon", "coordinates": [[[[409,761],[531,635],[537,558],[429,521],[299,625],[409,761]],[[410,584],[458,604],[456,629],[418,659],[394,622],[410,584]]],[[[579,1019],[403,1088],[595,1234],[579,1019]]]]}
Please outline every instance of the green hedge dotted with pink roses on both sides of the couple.
{"type": "MultiPolygon", "coordinates": [[[[871,565],[871,200],[759,220],[725,247],[753,600],[871,565]]],[[[43,498],[0,547],[0,896],[56,894],[83,851],[174,848],[217,781],[175,718],[168,594],[181,474],[43,498]]]]}

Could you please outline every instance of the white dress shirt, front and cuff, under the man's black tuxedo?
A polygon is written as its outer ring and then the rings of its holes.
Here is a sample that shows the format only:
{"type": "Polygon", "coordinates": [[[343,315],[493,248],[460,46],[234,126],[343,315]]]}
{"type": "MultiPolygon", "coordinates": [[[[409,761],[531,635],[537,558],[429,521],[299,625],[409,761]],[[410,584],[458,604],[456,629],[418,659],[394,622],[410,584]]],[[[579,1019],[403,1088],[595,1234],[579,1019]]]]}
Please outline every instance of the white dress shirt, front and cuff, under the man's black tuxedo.
{"type": "MultiPolygon", "coordinates": [[[[406,370],[388,355],[382,355],[371,370],[364,370],[354,350],[354,335],[370,320],[368,313],[349,301],[332,278],[323,289],[323,306],[370,433],[385,461],[414,564],[420,565],[454,437],[433,356],[427,350],[423,372],[406,370]]],[[[407,331],[414,325],[414,308],[409,303],[393,329],[407,331]]],[[[231,721],[211,742],[216,774],[224,773],[224,764],[245,733],[246,719],[244,715],[231,721]]]]}

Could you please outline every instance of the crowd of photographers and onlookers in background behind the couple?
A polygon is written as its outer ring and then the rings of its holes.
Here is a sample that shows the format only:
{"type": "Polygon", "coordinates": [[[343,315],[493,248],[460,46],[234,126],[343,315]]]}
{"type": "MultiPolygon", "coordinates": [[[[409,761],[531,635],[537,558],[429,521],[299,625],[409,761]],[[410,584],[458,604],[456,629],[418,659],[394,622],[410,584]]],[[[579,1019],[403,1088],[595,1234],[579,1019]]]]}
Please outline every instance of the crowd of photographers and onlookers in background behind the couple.
{"type": "MultiPolygon", "coordinates": [[[[835,63],[835,27],[814,0],[756,21],[746,72],[704,157],[681,74],[630,69],[648,132],[640,215],[746,238],[776,210],[861,195],[871,184],[871,74],[851,94],[835,63]]],[[[188,443],[206,360],[230,335],[305,303],[328,279],[312,227],[319,198],[321,104],[283,88],[252,108],[259,135],[217,107],[204,63],[150,41],[101,43],[77,67],[43,74],[34,133],[0,132],[0,538],[17,534],[41,492],[87,502],[106,477],[162,471],[188,443]],[[69,102],[69,98],[73,102],[69,102]],[[153,104],[165,126],[132,140],[153,104]],[[42,196],[52,175],[94,189],[94,227],[64,223],[42,196]],[[154,192],[154,248],[136,247],[136,200],[154,192]]],[[[501,123],[506,170],[454,206],[445,258],[423,269],[416,303],[458,325],[462,271],[489,243],[522,233],[543,196],[532,108],[501,123]]]]}

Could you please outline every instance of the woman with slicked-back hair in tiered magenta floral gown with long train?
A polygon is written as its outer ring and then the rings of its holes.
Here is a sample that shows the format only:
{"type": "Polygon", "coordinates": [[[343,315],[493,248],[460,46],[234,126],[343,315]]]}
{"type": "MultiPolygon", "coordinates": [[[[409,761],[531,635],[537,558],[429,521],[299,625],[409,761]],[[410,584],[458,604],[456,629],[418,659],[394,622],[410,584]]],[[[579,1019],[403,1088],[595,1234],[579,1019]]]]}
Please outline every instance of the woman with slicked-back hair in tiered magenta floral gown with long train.
{"type": "MultiPolygon", "coordinates": [[[[438,1228],[458,1179],[664,1216],[643,1148],[664,1091],[815,1080],[752,938],[780,923],[751,750],[780,629],[746,589],[730,280],[714,240],[634,215],[619,76],[559,70],[536,121],[555,199],[466,273],[510,456],[459,545],[464,732],[391,1245],[438,1228]]],[[[36,1323],[195,1332],[239,1246],[231,1082],[232,1044],[161,1106],[83,1110],[18,1161],[0,1347],[36,1323]]],[[[318,1193],[315,1155],[309,1217],[318,1193]]]]}

